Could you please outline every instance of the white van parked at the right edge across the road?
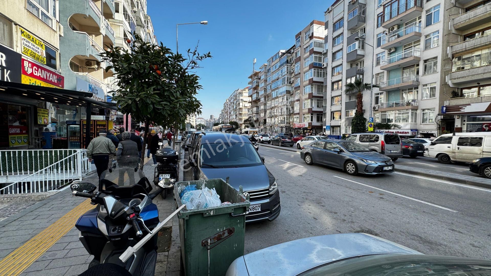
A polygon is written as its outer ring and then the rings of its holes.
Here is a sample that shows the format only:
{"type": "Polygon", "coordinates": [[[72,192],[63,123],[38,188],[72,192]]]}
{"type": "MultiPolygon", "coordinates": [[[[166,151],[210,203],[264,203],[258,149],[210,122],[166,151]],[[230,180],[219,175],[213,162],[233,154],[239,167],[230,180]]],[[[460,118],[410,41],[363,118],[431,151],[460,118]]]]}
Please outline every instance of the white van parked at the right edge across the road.
{"type": "Polygon", "coordinates": [[[440,163],[472,162],[491,157],[491,132],[459,132],[443,134],[428,146],[425,156],[437,158],[440,163]]]}

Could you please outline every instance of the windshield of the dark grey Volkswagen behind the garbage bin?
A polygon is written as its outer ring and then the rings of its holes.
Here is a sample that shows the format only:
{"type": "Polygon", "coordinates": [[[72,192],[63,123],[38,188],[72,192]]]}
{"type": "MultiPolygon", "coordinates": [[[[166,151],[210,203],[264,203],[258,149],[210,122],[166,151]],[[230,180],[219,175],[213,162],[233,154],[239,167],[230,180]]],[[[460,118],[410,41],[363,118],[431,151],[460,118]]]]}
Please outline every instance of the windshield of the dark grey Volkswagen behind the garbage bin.
{"type": "Polygon", "coordinates": [[[200,158],[203,167],[225,168],[263,165],[256,149],[248,142],[202,144],[200,158]]]}

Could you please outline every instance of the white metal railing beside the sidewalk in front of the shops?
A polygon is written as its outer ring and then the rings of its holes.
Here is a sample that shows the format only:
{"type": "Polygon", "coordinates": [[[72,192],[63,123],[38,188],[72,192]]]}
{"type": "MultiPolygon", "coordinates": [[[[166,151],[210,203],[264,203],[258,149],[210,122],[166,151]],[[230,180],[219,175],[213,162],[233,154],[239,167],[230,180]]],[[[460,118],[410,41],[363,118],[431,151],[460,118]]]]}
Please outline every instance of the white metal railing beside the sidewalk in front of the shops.
{"type": "MultiPolygon", "coordinates": [[[[85,149],[50,150],[51,155],[50,151],[46,150],[29,151],[31,158],[20,158],[20,160],[18,152],[24,156],[23,151],[1,151],[1,164],[5,166],[6,172],[16,173],[13,171],[15,168],[17,175],[21,176],[19,176],[19,180],[1,188],[0,194],[53,191],[73,180],[82,180],[82,176],[92,169],[85,149]],[[63,158],[58,155],[59,159],[56,160],[54,151],[63,151],[65,155],[62,155],[63,158]],[[45,153],[47,154],[45,155],[45,153]],[[15,162],[14,157],[17,158],[15,162]],[[51,159],[49,159],[50,157],[51,159]],[[10,163],[6,163],[9,159],[10,163]],[[9,168],[11,171],[8,170],[9,168]]],[[[4,172],[3,167],[1,171],[4,172]]]]}

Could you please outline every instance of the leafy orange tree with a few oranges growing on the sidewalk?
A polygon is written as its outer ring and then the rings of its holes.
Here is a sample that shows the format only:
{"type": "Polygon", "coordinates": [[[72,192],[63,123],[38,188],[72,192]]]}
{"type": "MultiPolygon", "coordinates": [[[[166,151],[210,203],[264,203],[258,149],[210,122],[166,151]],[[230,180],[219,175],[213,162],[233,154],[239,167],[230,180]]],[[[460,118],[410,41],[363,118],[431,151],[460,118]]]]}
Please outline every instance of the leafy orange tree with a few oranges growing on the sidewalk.
{"type": "MultiPolygon", "coordinates": [[[[116,85],[113,101],[118,111],[131,114],[136,121],[149,125],[180,126],[192,113],[201,114],[201,102],[196,95],[202,88],[199,77],[192,70],[199,63],[212,57],[210,53],[199,54],[197,46],[187,51],[187,57],[174,54],[162,42],[160,45],[144,42],[138,34],[130,44],[131,51],[108,46],[101,53],[107,61],[106,72],[112,68],[116,85]]],[[[145,152],[146,135],[142,154],[145,152]]],[[[143,155],[142,155],[143,156],[143,155]]]]}

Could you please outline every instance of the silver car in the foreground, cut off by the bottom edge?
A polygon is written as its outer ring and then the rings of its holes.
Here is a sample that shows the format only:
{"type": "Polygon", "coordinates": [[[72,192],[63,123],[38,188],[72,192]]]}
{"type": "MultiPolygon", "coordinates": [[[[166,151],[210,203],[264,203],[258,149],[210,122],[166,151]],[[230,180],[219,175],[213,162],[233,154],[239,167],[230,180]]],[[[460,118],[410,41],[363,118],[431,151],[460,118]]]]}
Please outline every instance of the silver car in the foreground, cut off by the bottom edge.
{"type": "Polygon", "coordinates": [[[424,255],[365,233],[331,234],[263,248],[241,256],[225,276],[486,275],[491,261],[424,255]]]}

